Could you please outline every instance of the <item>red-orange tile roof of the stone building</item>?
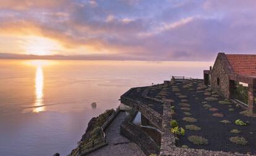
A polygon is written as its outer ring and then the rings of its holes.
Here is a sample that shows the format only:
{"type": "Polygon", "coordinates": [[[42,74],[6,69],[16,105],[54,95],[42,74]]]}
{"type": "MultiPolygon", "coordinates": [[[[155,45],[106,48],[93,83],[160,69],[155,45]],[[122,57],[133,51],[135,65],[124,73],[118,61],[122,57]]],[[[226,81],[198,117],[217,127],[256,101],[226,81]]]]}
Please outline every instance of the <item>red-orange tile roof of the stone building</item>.
{"type": "Polygon", "coordinates": [[[256,55],[226,54],[237,75],[256,75],[256,55]]]}

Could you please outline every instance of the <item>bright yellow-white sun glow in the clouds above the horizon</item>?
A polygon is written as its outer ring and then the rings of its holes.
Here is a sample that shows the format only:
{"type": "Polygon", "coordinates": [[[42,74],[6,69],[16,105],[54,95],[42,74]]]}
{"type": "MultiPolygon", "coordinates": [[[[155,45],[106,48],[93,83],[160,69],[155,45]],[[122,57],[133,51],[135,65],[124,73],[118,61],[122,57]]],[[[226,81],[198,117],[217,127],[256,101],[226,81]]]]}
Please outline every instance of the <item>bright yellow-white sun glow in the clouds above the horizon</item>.
{"type": "Polygon", "coordinates": [[[41,36],[28,36],[26,38],[24,49],[30,55],[54,55],[61,49],[59,43],[53,39],[41,36]]]}

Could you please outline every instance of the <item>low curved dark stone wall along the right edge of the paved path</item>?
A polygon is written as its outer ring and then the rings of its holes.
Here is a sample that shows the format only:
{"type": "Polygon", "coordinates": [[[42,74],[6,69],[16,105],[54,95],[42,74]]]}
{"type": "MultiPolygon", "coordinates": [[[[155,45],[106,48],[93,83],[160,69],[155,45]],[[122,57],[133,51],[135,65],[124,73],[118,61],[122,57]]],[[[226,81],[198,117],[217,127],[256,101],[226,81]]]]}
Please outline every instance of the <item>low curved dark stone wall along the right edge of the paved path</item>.
{"type": "Polygon", "coordinates": [[[122,122],[120,134],[135,142],[145,154],[158,154],[160,149],[153,139],[143,132],[142,129],[130,123],[136,114],[137,112],[133,113],[122,122]]]}

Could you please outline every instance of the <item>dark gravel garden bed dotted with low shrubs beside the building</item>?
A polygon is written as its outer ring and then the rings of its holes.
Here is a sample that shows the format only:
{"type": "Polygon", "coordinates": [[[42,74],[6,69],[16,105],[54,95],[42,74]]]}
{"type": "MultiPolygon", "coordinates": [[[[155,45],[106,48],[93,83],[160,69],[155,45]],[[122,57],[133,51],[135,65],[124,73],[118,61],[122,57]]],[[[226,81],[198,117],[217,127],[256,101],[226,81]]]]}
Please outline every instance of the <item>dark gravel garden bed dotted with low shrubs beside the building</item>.
{"type": "Polygon", "coordinates": [[[244,109],[225,101],[202,82],[153,88],[148,96],[175,101],[173,118],[185,129],[177,147],[256,154],[256,118],[242,115],[244,109]],[[247,125],[236,125],[236,120],[247,125]]]}

